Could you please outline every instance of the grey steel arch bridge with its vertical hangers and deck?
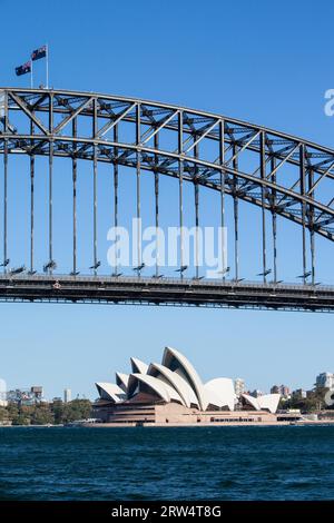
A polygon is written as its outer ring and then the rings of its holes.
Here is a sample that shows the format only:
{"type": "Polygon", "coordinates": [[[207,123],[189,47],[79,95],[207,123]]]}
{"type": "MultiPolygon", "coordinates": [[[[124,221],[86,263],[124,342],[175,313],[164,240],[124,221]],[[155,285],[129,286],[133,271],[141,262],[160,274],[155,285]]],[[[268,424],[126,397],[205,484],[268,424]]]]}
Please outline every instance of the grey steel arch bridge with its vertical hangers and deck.
{"type": "MultiPolygon", "coordinates": [[[[0,152],[3,157],[3,274],[0,298],[106,303],[187,304],[236,307],[332,310],[334,288],[315,276],[315,236],[334,239],[334,150],[248,122],[177,106],[134,98],[46,89],[0,89],[0,152]],[[30,169],[29,267],[10,268],[8,251],[9,158],[23,155],[30,169]],[[35,259],[36,158],[48,159],[48,259],[43,275],[35,259]],[[71,161],[72,253],[70,275],[57,274],[53,253],[53,164],[71,161]],[[88,160],[92,174],[92,275],[79,276],[77,260],[78,162],[88,160]],[[196,226],[199,188],[219,195],[219,221],[226,225],[226,196],[233,199],[234,264],[222,280],[186,277],[180,234],[179,278],[143,277],[138,247],[137,278],[120,276],[116,262],[110,275],[99,274],[98,165],[114,171],[114,225],[119,225],[119,168],[136,174],[136,217],[141,216],[140,178],[155,180],[155,226],[159,227],[160,177],[178,180],[178,219],[184,225],[184,184],[194,186],[196,226]],[[244,283],[239,274],[239,203],[262,213],[262,283],[244,283]],[[267,215],[271,230],[267,230],[267,215]],[[278,279],[277,216],[301,227],[301,285],[278,279]],[[273,264],[268,267],[268,235],[273,264]],[[310,262],[308,262],[310,260],[310,262]],[[22,269],[22,270],[21,270],[22,269]],[[185,274],[184,274],[185,273],[185,274]],[[232,270],[230,270],[232,273],[232,270]]],[[[105,210],[105,209],[104,209],[105,210]]],[[[139,244],[138,244],[139,245],[139,244]]]]}

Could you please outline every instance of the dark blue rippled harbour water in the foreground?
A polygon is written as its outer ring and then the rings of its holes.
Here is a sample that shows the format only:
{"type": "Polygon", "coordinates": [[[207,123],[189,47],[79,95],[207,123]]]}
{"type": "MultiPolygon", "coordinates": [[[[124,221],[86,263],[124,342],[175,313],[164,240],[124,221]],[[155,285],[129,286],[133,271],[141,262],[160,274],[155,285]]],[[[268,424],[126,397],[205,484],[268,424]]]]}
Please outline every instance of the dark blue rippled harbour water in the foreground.
{"type": "Polygon", "coordinates": [[[0,428],[1,500],[333,500],[334,426],[0,428]]]}

